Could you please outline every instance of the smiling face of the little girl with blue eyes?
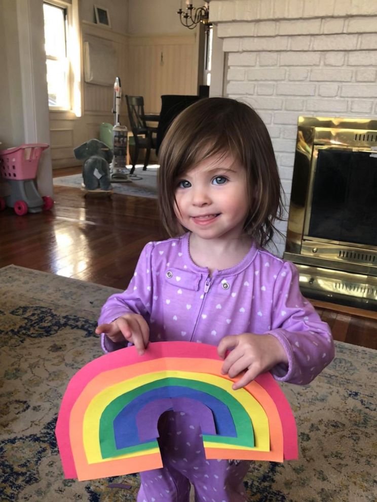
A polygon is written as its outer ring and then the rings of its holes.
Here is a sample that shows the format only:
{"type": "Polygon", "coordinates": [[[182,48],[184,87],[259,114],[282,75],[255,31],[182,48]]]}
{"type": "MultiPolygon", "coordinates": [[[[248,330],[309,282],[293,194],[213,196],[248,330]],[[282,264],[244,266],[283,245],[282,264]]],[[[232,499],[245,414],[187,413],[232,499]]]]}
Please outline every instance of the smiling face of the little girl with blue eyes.
{"type": "Polygon", "coordinates": [[[177,180],[175,214],[203,239],[237,239],[249,212],[246,172],[231,156],[199,162],[177,180]]]}

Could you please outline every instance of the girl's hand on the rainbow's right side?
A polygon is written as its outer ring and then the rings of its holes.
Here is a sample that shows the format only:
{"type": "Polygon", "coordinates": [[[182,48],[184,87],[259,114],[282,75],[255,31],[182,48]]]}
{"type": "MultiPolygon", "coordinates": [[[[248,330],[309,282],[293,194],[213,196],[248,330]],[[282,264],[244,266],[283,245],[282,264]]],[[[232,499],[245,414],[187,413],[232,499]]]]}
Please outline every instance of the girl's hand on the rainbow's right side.
{"type": "Polygon", "coordinates": [[[272,334],[243,333],[224,337],[218,344],[217,353],[221,358],[225,358],[221,368],[222,374],[235,378],[242,371],[246,371],[240,380],[233,384],[234,390],[241,389],[258,374],[270,370],[276,364],[288,364],[283,346],[272,334]],[[230,352],[225,357],[227,351],[230,352]]]}

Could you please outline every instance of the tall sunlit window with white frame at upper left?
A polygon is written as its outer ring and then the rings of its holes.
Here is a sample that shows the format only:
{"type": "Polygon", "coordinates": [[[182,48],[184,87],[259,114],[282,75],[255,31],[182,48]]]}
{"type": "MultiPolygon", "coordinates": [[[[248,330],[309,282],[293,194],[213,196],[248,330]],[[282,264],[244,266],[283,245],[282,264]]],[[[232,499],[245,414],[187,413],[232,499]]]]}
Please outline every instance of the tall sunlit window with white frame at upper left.
{"type": "MultiPolygon", "coordinates": [[[[43,3],[47,88],[50,110],[81,115],[80,42],[74,19],[77,0],[43,3]]],[[[77,20],[76,20],[77,21],[77,20]]]]}

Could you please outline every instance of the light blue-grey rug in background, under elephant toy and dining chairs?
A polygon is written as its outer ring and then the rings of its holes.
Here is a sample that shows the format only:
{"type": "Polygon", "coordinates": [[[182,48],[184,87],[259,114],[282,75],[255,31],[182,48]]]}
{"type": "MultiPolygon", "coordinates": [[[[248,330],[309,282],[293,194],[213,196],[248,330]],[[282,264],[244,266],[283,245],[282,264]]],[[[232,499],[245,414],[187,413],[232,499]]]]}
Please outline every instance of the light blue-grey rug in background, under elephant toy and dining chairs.
{"type": "MultiPolygon", "coordinates": [[[[131,166],[128,166],[129,168],[131,166]]],[[[142,167],[135,168],[135,177],[130,178],[128,183],[111,182],[112,189],[115,193],[123,195],[133,195],[134,197],[157,197],[157,173],[159,170],[158,164],[148,165],[146,171],[142,167]]],[[[129,170],[128,170],[129,171],[129,170]]],[[[59,176],[53,179],[54,185],[60,185],[71,188],[81,188],[83,176],[74,174],[71,176],[59,176]]]]}

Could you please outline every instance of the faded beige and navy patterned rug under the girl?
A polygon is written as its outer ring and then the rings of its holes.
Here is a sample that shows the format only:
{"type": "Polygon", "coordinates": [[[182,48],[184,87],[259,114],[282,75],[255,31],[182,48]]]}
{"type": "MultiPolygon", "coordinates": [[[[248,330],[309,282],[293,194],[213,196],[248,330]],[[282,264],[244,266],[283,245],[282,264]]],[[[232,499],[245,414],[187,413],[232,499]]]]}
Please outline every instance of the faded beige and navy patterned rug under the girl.
{"type": "MultiPolygon", "coordinates": [[[[114,291],[13,265],[0,269],[1,502],[136,500],[137,475],[65,480],[54,435],[69,379],[101,355],[96,318],[114,291]]],[[[254,463],[245,480],[248,500],[375,502],[376,355],[337,343],[335,360],[310,386],[283,386],[296,417],[299,460],[254,463]]]]}

